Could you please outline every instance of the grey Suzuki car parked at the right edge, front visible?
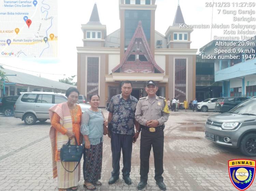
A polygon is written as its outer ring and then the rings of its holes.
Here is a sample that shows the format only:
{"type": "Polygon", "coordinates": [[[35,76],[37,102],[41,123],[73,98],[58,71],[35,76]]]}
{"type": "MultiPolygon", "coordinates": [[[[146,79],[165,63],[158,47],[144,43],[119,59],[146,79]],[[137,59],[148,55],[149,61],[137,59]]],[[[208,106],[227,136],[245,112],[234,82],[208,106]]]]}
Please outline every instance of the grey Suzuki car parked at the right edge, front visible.
{"type": "Polygon", "coordinates": [[[224,146],[239,148],[246,156],[256,156],[256,98],[247,99],[228,112],[210,116],[205,138],[224,146]]]}

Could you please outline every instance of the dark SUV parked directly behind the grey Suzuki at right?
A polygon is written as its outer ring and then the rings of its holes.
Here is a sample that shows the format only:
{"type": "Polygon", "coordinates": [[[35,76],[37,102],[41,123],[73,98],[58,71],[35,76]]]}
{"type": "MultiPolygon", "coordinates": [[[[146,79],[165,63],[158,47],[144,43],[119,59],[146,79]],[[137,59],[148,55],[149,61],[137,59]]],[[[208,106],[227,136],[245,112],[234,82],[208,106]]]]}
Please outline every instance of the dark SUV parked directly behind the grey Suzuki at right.
{"type": "Polygon", "coordinates": [[[227,112],[230,109],[234,108],[244,100],[250,98],[246,97],[221,97],[216,101],[215,109],[216,112],[227,112]]]}

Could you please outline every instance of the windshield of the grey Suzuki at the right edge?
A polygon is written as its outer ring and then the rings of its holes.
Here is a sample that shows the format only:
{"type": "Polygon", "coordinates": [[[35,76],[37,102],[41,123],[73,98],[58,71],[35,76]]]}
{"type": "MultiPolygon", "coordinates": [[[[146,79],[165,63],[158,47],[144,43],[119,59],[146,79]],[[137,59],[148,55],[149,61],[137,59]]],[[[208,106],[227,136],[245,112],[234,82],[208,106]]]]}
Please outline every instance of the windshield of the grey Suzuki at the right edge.
{"type": "Polygon", "coordinates": [[[256,100],[248,99],[229,111],[232,114],[256,115],[256,100]]]}

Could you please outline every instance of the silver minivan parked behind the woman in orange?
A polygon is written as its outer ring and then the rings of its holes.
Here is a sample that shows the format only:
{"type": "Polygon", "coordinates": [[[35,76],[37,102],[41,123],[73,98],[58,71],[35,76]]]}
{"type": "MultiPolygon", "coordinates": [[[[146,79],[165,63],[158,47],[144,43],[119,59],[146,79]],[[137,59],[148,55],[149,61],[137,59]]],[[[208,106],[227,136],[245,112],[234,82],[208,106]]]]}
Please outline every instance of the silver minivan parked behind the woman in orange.
{"type": "Polygon", "coordinates": [[[49,108],[55,104],[67,102],[63,93],[21,92],[15,103],[14,117],[24,120],[26,125],[49,119],[49,108]]]}

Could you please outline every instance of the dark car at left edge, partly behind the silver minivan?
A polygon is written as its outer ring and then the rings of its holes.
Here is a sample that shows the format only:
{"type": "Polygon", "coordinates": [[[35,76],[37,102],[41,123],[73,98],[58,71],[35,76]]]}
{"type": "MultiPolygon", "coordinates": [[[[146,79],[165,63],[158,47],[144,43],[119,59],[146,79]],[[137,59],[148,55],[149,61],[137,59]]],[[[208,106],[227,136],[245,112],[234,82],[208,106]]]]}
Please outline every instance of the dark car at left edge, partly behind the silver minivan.
{"type": "Polygon", "coordinates": [[[0,113],[3,113],[5,116],[12,116],[14,105],[18,97],[18,95],[3,97],[0,102],[0,113]]]}

